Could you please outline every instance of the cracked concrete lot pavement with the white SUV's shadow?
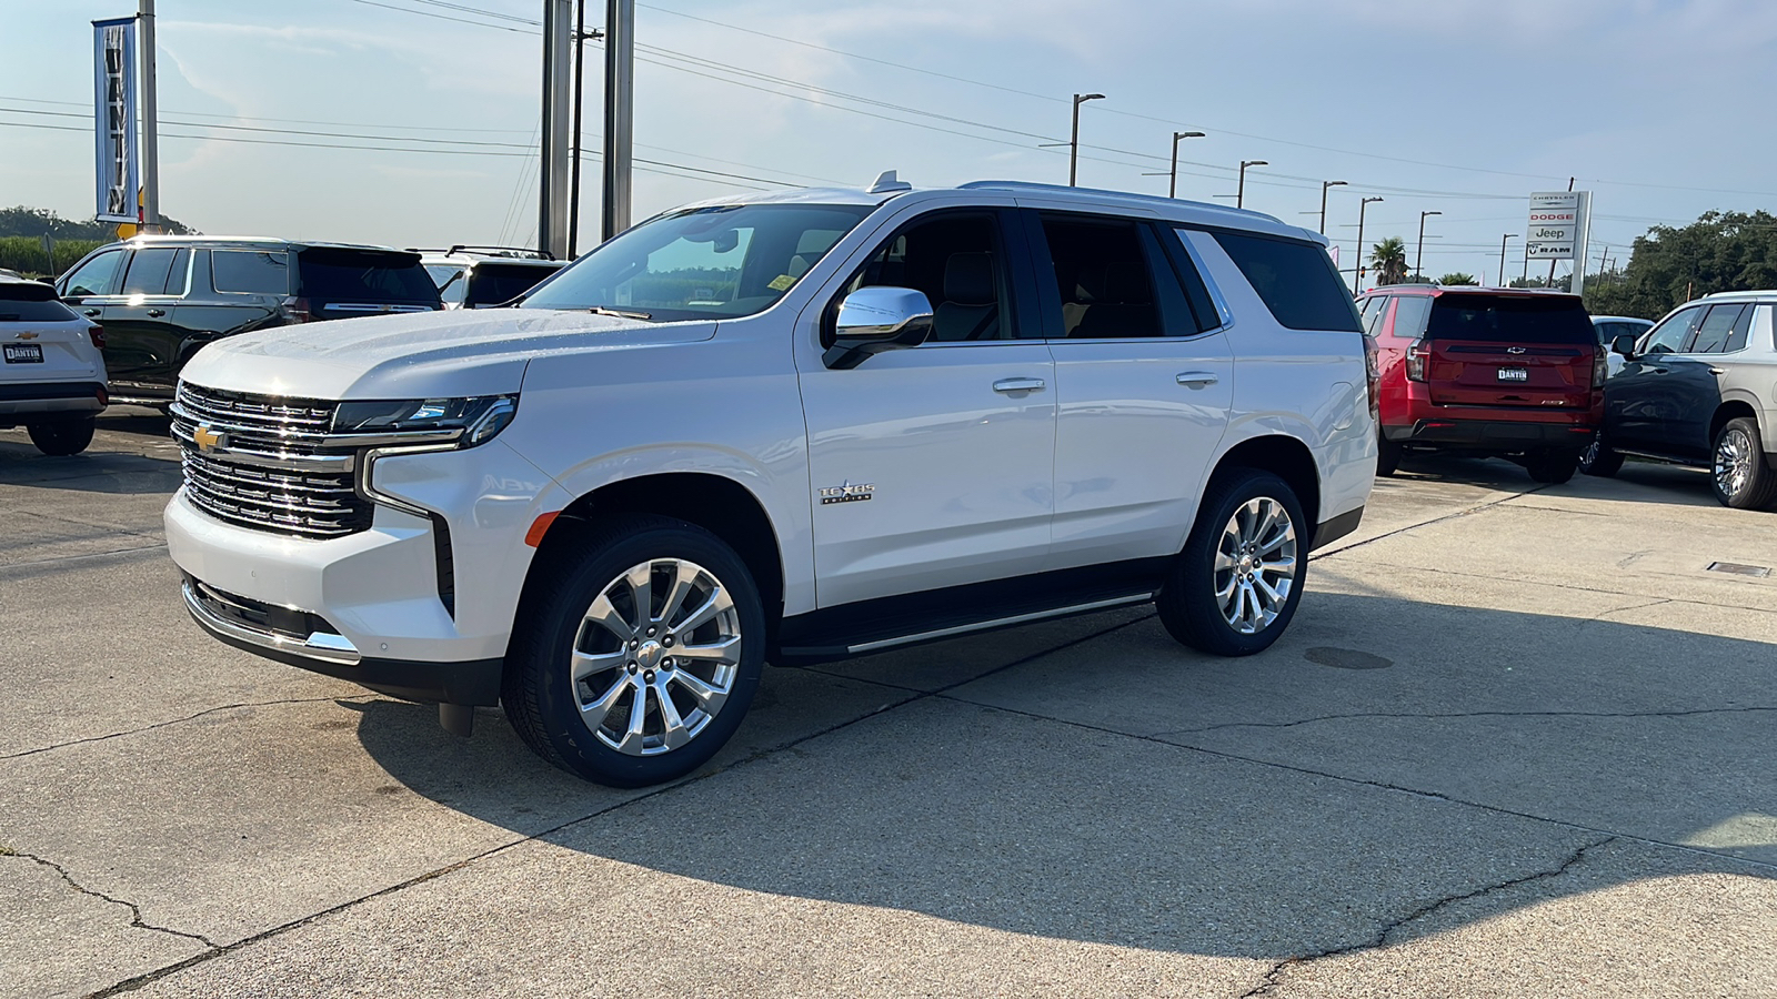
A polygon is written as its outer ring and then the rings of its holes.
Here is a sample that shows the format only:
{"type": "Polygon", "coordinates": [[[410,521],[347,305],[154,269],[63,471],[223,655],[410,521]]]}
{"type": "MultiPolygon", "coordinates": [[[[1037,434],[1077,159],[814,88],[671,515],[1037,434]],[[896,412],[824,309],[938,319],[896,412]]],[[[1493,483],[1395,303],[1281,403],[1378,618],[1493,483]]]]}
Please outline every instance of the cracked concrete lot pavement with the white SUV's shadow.
{"type": "Polygon", "coordinates": [[[183,617],[153,418],[0,432],[0,994],[1777,995],[1777,521],[1413,462],[1267,654],[768,670],[610,791],[183,617]]]}

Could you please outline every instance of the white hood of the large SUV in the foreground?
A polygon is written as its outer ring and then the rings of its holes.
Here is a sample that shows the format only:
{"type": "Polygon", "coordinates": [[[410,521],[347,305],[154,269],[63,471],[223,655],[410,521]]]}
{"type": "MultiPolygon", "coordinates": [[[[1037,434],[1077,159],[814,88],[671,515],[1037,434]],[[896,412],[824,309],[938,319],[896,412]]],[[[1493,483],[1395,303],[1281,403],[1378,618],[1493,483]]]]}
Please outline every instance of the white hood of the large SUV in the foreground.
{"type": "Polygon", "coordinates": [[[229,391],[295,398],[455,398],[519,391],[524,366],[554,352],[695,343],[714,322],[650,324],[554,309],[364,316],[219,340],[179,373],[229,391]]]}

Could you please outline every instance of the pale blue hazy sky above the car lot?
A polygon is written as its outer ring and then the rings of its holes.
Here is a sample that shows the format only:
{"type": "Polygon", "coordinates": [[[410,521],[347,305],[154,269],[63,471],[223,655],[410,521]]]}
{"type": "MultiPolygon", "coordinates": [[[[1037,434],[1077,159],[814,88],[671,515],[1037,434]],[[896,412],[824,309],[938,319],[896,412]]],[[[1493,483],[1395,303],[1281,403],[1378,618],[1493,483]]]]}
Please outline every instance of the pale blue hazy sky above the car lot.
{"type": "MultiPolygon", "coordinates": [[[[133,5],[4,4],[0,204],[92,213],[89,21],[133,5]]],[[[158,0],[158,16],[169,215],[396,245],[533,236],[540,0],[158,0]]],[[[1770,0],[659,0],[636,20],[636,156],[657,164],[636,174],[638,219],[890,167],[1066,183],[1064,149],[1040,144],[1066,139],[1077,91],[1107,94],[1082,110],[1082,185],[1166,194],[1144,174],[1173,130],[1201,130],[1180,197],[1230,203],[1235,165],[1267,160],[1246,206],[1313,228],[1319,181],[1351,181],[1327,208],[1347,267],[1363,196],[1384,197],[1365,242],[1402,236],[1411,260],[1420,212],[1443,212],[1427,274],[1489,281],[1528,192],[1569,176],[1596,192],[1594,268],[1651,224],[1777,206],[1770,0]]],[[[590,164],[583,244],[595,231],[590,164]]]]}

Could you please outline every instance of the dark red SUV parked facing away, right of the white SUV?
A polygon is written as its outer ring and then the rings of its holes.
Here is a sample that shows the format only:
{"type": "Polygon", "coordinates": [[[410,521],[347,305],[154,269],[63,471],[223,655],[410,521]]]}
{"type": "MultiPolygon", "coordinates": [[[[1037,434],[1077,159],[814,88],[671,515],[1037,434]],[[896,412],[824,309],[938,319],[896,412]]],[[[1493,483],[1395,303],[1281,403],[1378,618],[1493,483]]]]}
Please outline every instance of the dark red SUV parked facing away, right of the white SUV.
{"type": "Polygon", "coordinates": [[[1500,455],[1567,482],[1605,416],[1608,354],[1578,295],[1393,284],[1358,299],[1375,338],[1381,452],[1500,455]]]}

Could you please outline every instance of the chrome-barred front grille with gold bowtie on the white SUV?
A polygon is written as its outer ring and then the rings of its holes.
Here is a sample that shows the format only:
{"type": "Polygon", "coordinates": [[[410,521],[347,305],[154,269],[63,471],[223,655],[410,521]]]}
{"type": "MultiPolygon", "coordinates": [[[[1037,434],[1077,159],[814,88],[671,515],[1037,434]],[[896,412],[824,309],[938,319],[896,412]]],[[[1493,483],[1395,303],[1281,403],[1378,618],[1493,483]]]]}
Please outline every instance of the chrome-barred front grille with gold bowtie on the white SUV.
{"type": "Polygon", "coordinates": [[[325,444],[332,409],[181,382],[172,436],[185,452],[187,500],[220,521],[283,535],[368,530],[371,503],[354,487],[354,450],[325,444]],[[220,443],[199,446],[211,436],[220,443]]]}

